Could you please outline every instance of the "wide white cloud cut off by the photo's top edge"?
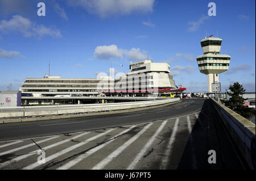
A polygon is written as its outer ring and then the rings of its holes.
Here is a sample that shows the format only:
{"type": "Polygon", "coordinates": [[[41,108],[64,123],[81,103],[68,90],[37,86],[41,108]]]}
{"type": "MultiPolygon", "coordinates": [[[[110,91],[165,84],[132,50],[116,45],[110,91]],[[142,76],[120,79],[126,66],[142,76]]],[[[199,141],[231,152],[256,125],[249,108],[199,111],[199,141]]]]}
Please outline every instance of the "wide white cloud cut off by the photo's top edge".
{"type": "Polygon", "coordinates": [[[152,12],[155,0],[69,0],[70,6],[79,6],[91,14],[104,18],[113,14],[131,14],[132,12],[152,12]]]}

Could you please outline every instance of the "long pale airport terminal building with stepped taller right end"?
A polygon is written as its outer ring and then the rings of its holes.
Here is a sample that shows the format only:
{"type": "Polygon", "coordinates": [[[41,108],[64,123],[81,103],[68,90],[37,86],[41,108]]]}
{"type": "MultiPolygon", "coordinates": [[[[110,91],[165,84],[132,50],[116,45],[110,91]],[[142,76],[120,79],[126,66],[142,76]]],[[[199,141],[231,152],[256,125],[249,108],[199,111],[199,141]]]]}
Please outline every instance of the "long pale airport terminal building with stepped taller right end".
{"type": "Polygon", "coordinates": [[[131,63],[129,73],[119,78],[61,78],[45,75],[43,78],[26,78],[20,87],[23,99],[25,96],[147,96],[157,91],[184,90],[175,85],[170,65],[152,60],[131,63]]]}

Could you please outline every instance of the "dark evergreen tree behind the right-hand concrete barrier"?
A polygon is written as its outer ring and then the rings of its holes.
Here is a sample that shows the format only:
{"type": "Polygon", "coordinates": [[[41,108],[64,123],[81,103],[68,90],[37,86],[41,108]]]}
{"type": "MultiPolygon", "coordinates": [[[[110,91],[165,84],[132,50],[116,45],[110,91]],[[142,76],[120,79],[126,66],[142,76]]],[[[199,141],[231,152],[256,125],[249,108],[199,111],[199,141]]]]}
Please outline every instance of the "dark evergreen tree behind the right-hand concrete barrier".
{"type": "Polygon", "coordinates": [[[229,86],[229,89],[232,92],[227,93],[232,97],[229,100],[222,100],[222,103],[245,118],[253,116],[255,114],[254,108],[243,106],[243,103],[247,100],[242,97],[242,95],[245,94],[243,86],[240,85],[239,82],[235,82],[233,85],[229,86]]]}

